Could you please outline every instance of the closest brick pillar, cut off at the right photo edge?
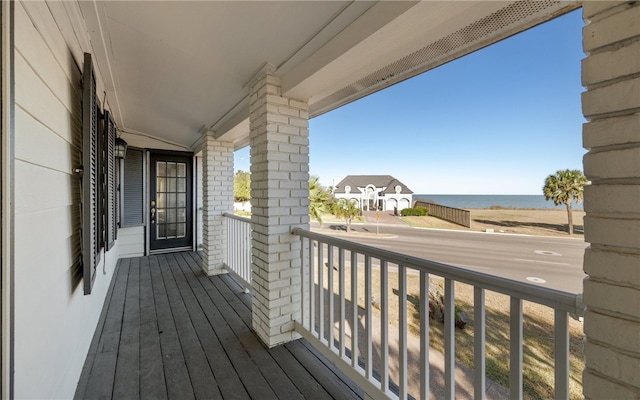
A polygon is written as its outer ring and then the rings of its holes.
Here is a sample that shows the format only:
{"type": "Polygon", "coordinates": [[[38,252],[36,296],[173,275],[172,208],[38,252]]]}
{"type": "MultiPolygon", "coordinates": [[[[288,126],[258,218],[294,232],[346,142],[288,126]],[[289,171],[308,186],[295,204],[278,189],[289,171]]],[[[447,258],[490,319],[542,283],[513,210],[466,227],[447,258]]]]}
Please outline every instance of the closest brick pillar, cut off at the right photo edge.
{"type": "Polygon", "coordinates": [[[640,398],[640,3],[583,3],[587,399],[640,398]]]}

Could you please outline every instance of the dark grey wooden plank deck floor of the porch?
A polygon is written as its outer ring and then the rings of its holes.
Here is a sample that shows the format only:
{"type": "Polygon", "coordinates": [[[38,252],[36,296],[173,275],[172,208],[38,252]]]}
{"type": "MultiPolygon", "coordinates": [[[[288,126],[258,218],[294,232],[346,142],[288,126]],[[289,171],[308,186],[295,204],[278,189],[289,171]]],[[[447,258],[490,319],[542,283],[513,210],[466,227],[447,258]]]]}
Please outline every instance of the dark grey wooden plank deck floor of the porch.
{"type": "Polygon", "coordinates": [[[120,260],[76,399],[351,399],[361,391],[303,340],[267,349],[251,296],[197,253],[120,260]]]}

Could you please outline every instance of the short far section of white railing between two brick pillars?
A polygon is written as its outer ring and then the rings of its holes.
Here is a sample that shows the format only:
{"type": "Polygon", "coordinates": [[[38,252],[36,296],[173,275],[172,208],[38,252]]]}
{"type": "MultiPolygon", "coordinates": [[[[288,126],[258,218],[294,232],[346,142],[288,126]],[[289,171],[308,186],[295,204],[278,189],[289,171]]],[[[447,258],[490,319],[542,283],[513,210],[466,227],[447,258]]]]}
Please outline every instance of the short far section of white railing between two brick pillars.
{"type": "Polygon", "coordinates": [[[222,214],[227,225],[227,261],[225,267],[251,290],[251,219],[232,213],[222,214]]]}

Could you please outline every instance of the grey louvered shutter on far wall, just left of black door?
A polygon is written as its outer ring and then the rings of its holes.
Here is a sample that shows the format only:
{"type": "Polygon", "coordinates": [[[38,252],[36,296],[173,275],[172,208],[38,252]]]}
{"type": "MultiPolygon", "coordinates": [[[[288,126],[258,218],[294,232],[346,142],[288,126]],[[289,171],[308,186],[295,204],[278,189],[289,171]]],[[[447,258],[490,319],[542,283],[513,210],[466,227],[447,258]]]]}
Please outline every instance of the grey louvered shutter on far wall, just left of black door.
{"type": "Polygon", "coordinates": [[[122,226],[135,226],[144,223],[143,154],[140,150],[129,148],[127,149],[127,157],[124,159],[122,226]]]}

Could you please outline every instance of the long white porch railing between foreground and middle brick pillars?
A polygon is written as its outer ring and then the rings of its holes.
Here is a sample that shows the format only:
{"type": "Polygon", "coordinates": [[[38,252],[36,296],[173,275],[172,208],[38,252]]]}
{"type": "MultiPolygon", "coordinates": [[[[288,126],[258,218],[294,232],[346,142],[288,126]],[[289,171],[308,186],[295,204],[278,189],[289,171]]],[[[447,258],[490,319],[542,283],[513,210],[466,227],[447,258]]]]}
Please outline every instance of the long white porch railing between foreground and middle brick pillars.
{"type": "MultiPolygon", "coordinates": [[[[421,399],[429,397],[430,274],[444,278],[446,398],[455,398],[456,389],[455,318],[451,318],[455,307],[455,282],[466,283],[474,288],[474,398],[484,399],[486,391],[485,290],[506,294],[511,299],[510,398],[522,398],[524,300],[554,310],[555,398],[569,397],[569,314],[582,315],[581,296],[385,251],[300,228],[294,228],[291,232],[302,240],[302,313],[300,321],[296,323],[296,331],[338,365],[371,398],[408,398],[409,366],[419,371],[419,390],[415,390],[417,393],[413,395],[421,399]],[[390,308],[390,272],[394,282],[397,274],[398,299],[407,299],[407,275],[419,276],[420,338],[417,358],[415,350],[412,354],[407,353],[408,301],[397,301],[397,310],[390,308]],[[335,274],[338,275],[337,288],[334,287],[335,274]],[[376,293],[372,293],[374,274],[379,274],[379,277],[376,276],[379,279],[376,293]],[[346,281],[358,283],[345,284],[346,281]],[[372,296],[378,294],[379,321],[373,318],[371,301],[372,296]],[[358,301],[351,301],[358,297],[364,300],[362,307],[359,307],[358,301]],[[398,315],[397,332],[395,328],[389,331],[391,311],[398,315]],[[410,363],[409,357],[413,357],[410,363]]],[[[415,374],[415,370],[411,372],[415,374]]]]}

